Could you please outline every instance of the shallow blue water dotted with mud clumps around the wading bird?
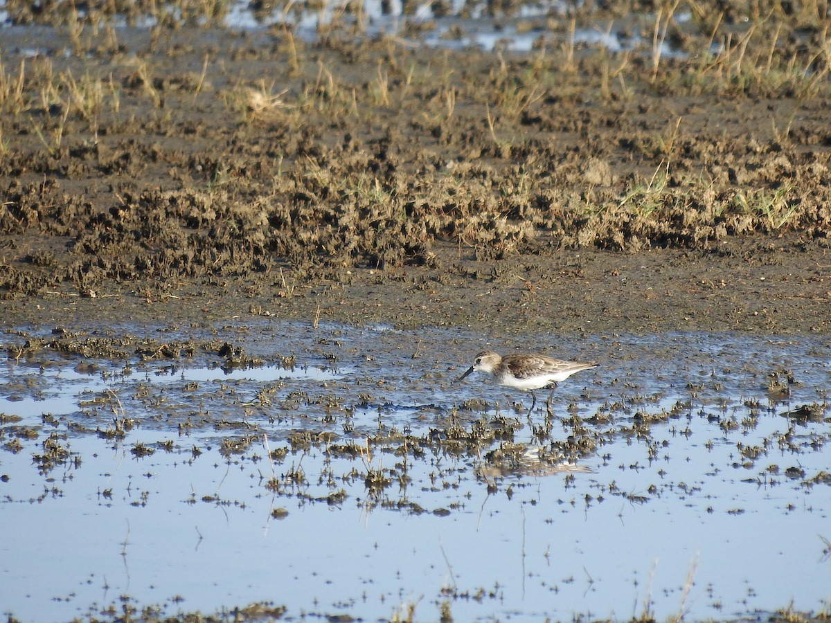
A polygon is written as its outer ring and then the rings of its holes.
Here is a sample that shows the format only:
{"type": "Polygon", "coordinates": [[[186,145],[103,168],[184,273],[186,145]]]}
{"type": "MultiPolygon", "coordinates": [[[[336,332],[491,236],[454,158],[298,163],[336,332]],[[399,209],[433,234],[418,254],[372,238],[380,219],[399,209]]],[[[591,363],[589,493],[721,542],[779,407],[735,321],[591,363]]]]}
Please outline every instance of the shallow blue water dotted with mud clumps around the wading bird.
{"type": "Polygon", "coordinates": [[[0,529],[19,536],[0,542],[4,613],[266,601],[289,618],[414,605],[436,620],[446,602],[460,621],[697,620],[831,600],[827,341],[527,336],[514,344],[602,362],[560,385],[548,437],[527,395],[454,382],[507,340],[277,322],[108,331],[122,332],[219,334],[264,365],[226,374],[199,349],[3,362],[0,529]],[[786,416],[801,405],[814,406],[786,416]],[[546,460],[569,436],[595,447],[546,460]],[[531,450],[489,454],[510,442],[531,450]]]}

